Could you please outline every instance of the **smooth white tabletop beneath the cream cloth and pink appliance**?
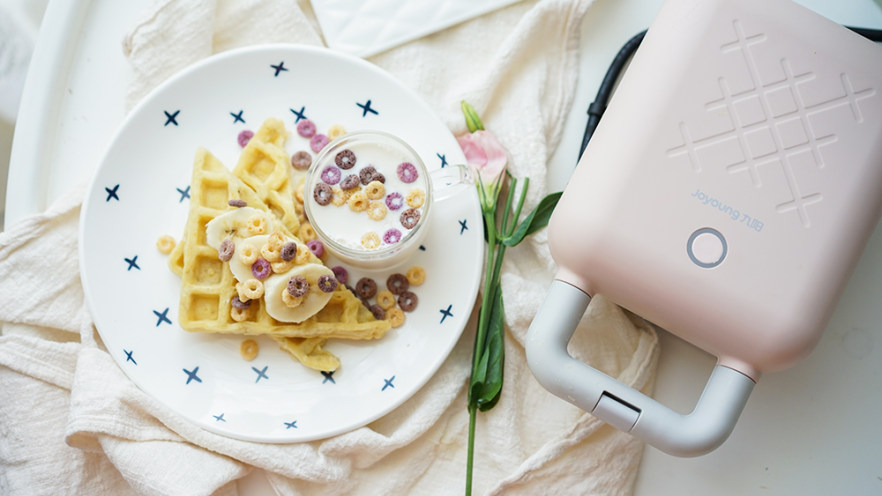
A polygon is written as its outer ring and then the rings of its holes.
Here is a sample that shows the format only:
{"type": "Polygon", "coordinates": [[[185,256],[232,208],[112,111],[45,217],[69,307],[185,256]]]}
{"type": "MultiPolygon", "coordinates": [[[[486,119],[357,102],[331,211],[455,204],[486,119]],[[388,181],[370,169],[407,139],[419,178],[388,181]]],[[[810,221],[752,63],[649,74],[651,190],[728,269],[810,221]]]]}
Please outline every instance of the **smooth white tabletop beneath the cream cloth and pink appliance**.
{"type": "MultiPolygon", "coordinates": [[[[150,0],[52,0],[19,112],[6,225],[85,183],[125,116],[122,39],[150,0]]],[[[882,28],[874,0],[801,0],[842,24],[882,28]]],[[[562,187],[577,160],[585,109],[619,47],[661,0],[597,0],[583,25],[580,83],[550,166],[562,187]]],[[[638,495],[882,494],[882,224],[815,351],[763,377],[726,443],[699,458],[646,449],[638,495]]],[[[688,412],[714,359],[661,333],[655,397],[688,412]]],[[[579,460],[574,459],[573,464],[579,460]]],[[[243,494],[272,494],[259,472],[243,494]]]]}

